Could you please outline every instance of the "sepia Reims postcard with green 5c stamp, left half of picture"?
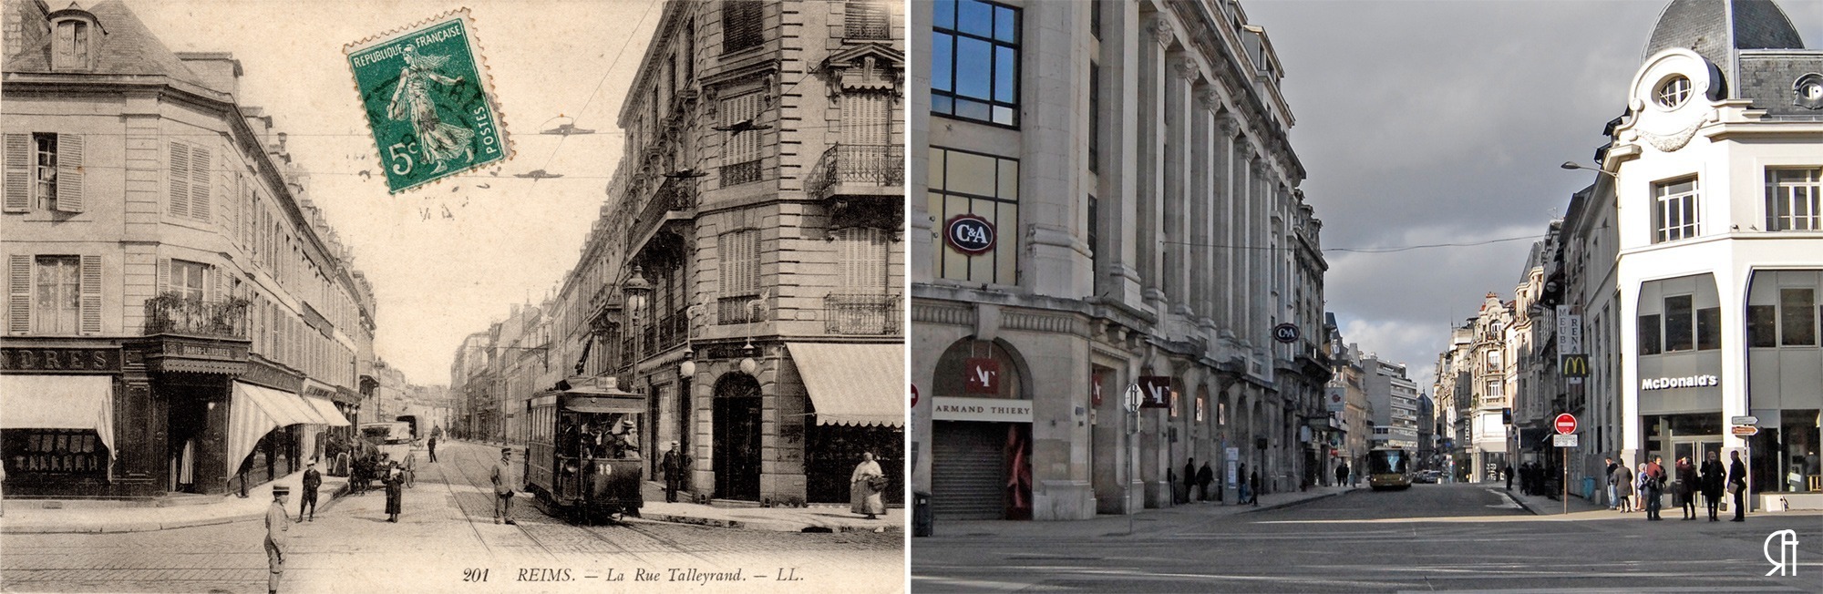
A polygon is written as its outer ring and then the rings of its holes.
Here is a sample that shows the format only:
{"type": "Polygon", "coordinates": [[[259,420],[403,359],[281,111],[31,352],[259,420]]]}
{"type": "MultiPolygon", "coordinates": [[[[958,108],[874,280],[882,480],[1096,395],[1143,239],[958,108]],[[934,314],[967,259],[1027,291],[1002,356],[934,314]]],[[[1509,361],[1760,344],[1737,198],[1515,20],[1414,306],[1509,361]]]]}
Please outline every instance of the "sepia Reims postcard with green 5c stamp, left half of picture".
{"type": "Polygon", "coordinates": [[[5,0],[4,592],[902,592],[902,2],[5,0]]]}

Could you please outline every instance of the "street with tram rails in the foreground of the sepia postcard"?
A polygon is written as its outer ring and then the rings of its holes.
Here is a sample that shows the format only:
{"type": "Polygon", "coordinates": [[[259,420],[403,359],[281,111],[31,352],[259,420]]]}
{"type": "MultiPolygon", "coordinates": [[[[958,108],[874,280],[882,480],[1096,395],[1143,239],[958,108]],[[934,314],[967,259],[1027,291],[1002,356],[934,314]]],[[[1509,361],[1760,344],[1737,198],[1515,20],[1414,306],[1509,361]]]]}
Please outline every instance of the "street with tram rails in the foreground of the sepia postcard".
{"type": "MultiPolygon", "coordinates": [[[[904,583],[904,532],[797,534],[631,521],[574,527],[525,497],[494,525],[498,450],[439,446],[386,523],[383,492],[341,497],[292,525],[281,592],[853,590],[904,583]],[[689,572],[696,574],[691,576],[689,572]],[[644,572],[651,581],[636,583],[644,572]],[[740,581],[707,574],[738,572],[740,581]],[[620,578],[616,581],[616,578],[620,578]]],[[[290,505],[295,510],[295,499],[290,505]]],[[[129,534],[0,536],[4,592],[264,592],[264,525],[129,534]]]]}

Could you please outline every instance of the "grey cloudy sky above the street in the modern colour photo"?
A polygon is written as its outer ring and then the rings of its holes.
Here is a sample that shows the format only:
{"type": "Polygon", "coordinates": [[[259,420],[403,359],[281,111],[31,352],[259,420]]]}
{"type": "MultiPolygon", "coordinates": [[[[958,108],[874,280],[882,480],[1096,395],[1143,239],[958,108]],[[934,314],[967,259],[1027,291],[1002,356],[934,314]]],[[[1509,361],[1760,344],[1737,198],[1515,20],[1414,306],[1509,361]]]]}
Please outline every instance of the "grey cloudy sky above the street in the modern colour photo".
{"type": "MultiPolygon", "coordinates": [[[[1664,0],[1241,2],[1285,66],[1303,191],[1345,341],[1429,386],[1449,326],[1513,299],[1531,241],[1591,171],[1664,0]]],[[[1777,0],[1810,47],[1823,2],[1777,0]]]]}

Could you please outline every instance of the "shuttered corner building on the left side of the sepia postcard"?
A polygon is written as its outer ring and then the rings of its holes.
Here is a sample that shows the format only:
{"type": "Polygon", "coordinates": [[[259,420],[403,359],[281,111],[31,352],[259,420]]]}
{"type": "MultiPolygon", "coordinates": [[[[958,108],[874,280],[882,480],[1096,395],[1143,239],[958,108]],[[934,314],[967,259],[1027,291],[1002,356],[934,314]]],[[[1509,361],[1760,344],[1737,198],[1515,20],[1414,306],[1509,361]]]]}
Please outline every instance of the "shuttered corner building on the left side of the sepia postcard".
{"type": "MultiPolygon", "coordinates": [[[[5,5],[7,497],[222,494],[359,421],[372,288],[241,62],[120,2],[5,5]]],[[[343,430],[346,432],[346,430],[343,430]]]]}

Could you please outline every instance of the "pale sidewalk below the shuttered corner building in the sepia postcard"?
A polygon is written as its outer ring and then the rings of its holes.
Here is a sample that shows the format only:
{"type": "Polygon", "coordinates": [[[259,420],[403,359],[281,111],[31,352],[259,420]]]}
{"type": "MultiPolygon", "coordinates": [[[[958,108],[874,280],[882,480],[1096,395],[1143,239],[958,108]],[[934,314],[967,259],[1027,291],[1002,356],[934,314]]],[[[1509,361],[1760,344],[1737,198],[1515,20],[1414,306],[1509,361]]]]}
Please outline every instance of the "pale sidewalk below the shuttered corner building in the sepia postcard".
{"type": "MultiPolygon", "coordinates": [[[[297,514],[297,494],[303,481],[304,472],[299,470],[248,488],[246,499],[228,494],[217,496],[217,501],[173,507],[95,507],[91,501],[64,501],[64,508],[44,508],[42,505],[47,503],[44,499],[7,501],[5,516],[0,517],[0,534],[149,532],[263,519],[266,508],[272,507],[273,485],[292,488],[284,508],[288,514],[297,514]]],[[[346,494],[346,486],[348,477],[324,474],[323,486],[317,490],[317,507],[326,507],[346,494]]]]}

